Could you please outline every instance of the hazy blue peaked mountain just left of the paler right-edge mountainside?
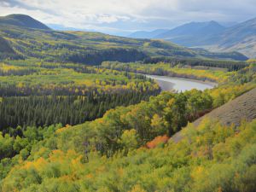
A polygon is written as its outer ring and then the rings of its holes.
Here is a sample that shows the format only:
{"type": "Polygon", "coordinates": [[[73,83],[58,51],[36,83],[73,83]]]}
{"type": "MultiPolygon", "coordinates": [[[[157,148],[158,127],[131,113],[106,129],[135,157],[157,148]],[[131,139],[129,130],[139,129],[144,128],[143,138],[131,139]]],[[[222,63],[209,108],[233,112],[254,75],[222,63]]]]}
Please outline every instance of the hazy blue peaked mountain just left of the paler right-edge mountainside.
{"type": "Polygon", "coordinates": [[[161,33],[154,38],[166,39],[183,46],[196,46],[206,44],[207,37],[223,32],[224,29],[224,26],[213,20],[209,22],[190,22],[161,33]]]}

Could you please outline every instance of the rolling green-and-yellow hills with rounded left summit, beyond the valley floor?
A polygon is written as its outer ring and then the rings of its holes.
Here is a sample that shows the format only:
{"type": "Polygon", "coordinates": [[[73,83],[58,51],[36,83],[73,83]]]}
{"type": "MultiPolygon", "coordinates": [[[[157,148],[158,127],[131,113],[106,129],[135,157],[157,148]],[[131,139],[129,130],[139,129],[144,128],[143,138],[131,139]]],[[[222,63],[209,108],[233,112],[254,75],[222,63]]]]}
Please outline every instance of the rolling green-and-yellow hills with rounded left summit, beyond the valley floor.
{"type": "Polygon", "coordinates": [[[247,60],[238,52],[213,53],[165,40],[121,38],[101,32],[55,31],[27,15],[0,18],[0,59],[40,58],[98,65],[102,61],[144,61],[158,56],[247,60]]]}

